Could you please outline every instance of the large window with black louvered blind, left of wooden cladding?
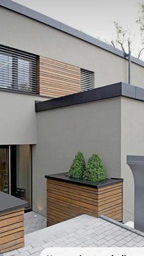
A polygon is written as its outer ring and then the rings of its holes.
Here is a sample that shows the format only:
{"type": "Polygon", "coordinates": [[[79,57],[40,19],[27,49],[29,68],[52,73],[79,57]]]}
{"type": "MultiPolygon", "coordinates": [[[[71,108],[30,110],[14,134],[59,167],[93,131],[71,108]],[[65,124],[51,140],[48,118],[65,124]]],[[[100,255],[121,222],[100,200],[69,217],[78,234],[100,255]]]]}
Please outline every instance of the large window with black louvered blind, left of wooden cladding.
{"type": "Polygon", "coordinates": [[[37,56],[0,45],[0,88],[37,93],[37,56]]]}

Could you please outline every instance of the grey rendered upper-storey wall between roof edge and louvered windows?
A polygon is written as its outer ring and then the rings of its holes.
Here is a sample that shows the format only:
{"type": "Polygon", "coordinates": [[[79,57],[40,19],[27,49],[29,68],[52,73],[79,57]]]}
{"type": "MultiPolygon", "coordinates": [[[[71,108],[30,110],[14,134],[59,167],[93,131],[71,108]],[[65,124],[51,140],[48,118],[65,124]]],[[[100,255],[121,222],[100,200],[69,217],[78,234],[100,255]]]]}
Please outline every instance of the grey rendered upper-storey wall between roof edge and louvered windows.
{"type": "MultiPolygon", "coordinates": [[[[0,7],[0,43],[95,72],[95,87],[128,82],[128,60],[45,24],[0,7]]],[[[132,64],[132,84],[144,87],[143,68],[132,64]],[[137,76],[139,70],[139,76],[137,76]]]]}

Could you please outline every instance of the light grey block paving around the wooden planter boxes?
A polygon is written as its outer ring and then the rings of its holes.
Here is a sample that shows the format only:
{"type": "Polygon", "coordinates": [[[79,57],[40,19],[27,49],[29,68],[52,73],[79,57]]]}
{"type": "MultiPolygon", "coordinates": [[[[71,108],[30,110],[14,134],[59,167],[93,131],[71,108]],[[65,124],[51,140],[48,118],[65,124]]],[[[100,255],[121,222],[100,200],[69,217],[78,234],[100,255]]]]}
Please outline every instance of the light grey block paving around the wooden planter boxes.
{"type": "Polygon", "coordinates": [[[46,219],[26,213],[25,246],[4,256],[39,256],[47,247],[143,247],[144,233],[86,214],[43,229],[46,219]],[[41,229],[42,228],[42,229],[41,229]],[[41,229],[38,231],[34,231],[41,229]],[[33,233],[29,233],[34,231],[33,233]]]}

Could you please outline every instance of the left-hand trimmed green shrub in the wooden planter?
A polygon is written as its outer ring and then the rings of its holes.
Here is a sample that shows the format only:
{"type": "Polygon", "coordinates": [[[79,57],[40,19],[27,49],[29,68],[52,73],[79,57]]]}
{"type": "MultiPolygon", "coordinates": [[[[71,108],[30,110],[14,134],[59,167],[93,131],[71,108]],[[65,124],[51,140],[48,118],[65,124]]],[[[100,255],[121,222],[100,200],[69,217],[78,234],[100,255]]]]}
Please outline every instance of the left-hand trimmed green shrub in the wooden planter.
{"type": "Polygon", "coordinates": [[[68,177],[82,179],[85,172],[85,159],[82,152],[77,152],[68,172],[68,177]]]}

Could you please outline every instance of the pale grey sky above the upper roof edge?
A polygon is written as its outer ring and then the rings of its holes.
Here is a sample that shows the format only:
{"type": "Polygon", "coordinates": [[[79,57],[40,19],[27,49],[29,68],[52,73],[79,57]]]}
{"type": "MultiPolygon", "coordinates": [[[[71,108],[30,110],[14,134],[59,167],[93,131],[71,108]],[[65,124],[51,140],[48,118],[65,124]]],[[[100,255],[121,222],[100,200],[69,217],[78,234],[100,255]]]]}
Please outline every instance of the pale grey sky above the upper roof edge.
{"type": "MultiPolygon", "coordinates": [[[[135,29],[139,0],[15,0],[101,40],[110,41],[113,21],[135,29]]],[[[139,41],[139,40],[138,40],[139,41]]]]}

